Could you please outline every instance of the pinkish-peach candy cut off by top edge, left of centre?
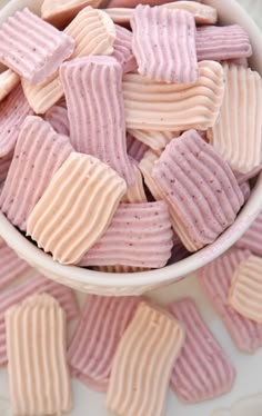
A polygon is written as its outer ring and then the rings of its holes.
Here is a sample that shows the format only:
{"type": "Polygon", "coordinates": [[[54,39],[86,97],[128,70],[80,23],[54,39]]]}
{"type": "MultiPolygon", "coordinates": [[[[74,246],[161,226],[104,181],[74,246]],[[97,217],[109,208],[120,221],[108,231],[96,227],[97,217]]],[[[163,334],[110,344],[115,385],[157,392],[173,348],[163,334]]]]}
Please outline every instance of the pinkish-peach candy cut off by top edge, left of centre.
{"type": "Polygon", "coordinates": [[[44,0],[41,18],[59,29],[64,28],[83,8],[98,8],[102,0],[44,0]]]}

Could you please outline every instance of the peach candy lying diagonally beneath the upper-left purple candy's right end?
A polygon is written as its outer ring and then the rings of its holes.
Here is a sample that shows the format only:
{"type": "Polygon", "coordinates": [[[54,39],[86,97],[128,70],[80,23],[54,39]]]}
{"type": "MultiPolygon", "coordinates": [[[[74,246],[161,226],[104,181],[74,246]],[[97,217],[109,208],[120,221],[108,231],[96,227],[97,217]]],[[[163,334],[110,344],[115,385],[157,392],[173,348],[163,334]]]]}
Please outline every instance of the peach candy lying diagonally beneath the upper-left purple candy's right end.
{"type": "MultiPolygon", "coordinates": [[[[84,8],[64,29],[64,33],[75,42],[70,59],[113,52],[115,28],[112,20],[101,10],[84,8]]],[[[30,106],[37,113],[44,113],[63,97],[63,86],[58,71],[38,86],[22,80],[22,87],[30,106]]]]}

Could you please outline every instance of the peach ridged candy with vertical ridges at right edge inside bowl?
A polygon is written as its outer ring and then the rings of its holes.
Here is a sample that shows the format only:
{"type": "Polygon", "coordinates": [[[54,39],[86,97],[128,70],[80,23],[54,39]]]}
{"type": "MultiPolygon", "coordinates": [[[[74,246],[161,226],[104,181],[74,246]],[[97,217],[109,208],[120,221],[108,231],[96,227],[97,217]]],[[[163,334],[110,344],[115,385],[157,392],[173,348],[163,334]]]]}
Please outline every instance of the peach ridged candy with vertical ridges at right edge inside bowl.
{"type": "Polygon", "coordinates": [[[241,66],[224,63],[223,68],[225,95],[211,140],[233,170],[246,174],[262,161],[261,77],[241,66]]]}

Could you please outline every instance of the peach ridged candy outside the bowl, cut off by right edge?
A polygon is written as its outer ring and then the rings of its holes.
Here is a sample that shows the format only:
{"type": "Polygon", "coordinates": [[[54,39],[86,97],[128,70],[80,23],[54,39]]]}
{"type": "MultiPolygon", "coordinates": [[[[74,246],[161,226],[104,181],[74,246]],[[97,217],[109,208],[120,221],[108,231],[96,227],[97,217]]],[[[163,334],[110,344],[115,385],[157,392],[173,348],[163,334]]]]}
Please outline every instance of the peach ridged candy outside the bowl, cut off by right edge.
{"type": "Polygon", "coordinates": [[[229,304],[245,318],[262,324],[262,258],[250,256],[235,269],[229,304]]]}

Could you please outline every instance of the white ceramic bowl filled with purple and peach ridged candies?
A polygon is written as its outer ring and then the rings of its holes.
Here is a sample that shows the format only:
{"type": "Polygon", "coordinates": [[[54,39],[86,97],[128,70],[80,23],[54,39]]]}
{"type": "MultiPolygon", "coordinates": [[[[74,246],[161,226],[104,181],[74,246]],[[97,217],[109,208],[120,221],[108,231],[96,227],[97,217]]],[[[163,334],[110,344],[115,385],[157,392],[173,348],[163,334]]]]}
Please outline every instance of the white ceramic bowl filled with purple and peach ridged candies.
{"type": "MultiPolygon", "coordinates": [[[[0,12],[0,24],[16,10],[29,6],[31,10],[40,10],[41,0],[11,0],[0,12]]],[[[262,75],[262,33],[246,12],[235,0],[204,0],[219,11],[220,22],[239,23],[250,34],[253,46],[251,66],[262,75]]],[[[4,0],[6,3],[6,0],[4,0]]],[[[159,270],[135,274],[105,274],[87,270],[74,266],[63,266],[38,249],[24,238],[0,212],[0,235],[20,257],[43,275],[61,284],[81,291],[99,295],[140,295],[148,290],[169,285],[188,274],[199,269],[230,248],[250,227],[262,209],[262,174],[252,190],[249,201],[239,214],[235,222],[221,235],[215,242],[191,255],[184,260],[167,266],[159,270]]]]}

